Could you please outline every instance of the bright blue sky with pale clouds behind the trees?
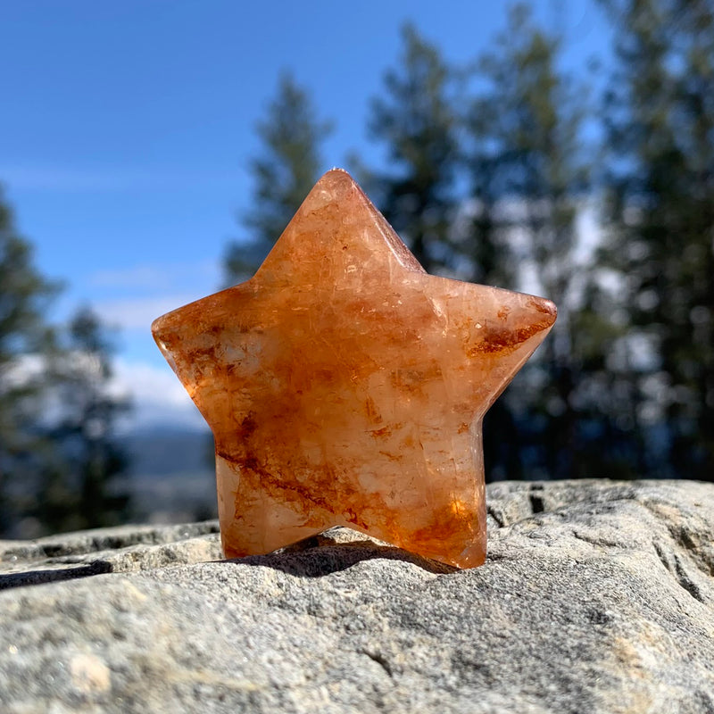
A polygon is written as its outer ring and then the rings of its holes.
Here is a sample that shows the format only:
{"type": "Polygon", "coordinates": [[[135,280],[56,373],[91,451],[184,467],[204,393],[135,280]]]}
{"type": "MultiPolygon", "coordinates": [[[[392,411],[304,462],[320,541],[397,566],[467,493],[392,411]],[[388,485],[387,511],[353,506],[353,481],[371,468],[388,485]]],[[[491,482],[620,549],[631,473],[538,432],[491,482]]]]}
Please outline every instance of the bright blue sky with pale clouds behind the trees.
{"type": "MultiPolygon", "coordinates": [[[[241,237],[255,122],[293,71],[336,130],[325,169],[356,151],[382,162],[369,97],[413,21],[447,60],[467,62],[502,29],[498,0],[22,0],[0,19],[0,182],[37,267],[62,279],[62,318],[79,304],[120,328],[118,378],[137,420],[197,421],[151,339],[162,312],[214,292],[241,237]]],[[[541,0],[576,71],[604,52],[588,0],[541,0]]]]}

